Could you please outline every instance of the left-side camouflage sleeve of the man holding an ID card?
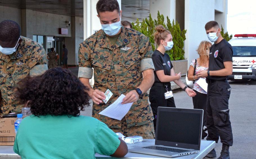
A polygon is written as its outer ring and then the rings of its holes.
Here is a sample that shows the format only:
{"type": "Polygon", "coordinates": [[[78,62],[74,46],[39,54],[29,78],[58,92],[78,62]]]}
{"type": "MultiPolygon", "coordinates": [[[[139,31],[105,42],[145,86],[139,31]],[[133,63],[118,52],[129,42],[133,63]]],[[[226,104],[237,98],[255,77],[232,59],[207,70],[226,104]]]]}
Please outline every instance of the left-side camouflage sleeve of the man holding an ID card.
{"type": "Polygon", "coordinates": [[[93,69],[91,68],[91,49],[87,41],[80,44],[78,50],[78,78],[88,78],[91,79],[93,76],[93,69]]]}

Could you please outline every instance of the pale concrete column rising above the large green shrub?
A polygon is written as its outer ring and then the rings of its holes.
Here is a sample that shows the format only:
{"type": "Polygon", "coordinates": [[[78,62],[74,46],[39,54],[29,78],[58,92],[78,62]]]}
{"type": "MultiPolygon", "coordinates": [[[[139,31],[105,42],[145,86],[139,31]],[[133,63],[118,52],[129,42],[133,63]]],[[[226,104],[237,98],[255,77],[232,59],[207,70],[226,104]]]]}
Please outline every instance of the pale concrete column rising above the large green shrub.
{"type": "Polygon", "coordinates": [[[172,19],[176,21],[176,0],[150,0],[150,13],[153,19],[157,19],[158,11],[165,17],[165,23],[167,16],[171,22],[172,19]]]}

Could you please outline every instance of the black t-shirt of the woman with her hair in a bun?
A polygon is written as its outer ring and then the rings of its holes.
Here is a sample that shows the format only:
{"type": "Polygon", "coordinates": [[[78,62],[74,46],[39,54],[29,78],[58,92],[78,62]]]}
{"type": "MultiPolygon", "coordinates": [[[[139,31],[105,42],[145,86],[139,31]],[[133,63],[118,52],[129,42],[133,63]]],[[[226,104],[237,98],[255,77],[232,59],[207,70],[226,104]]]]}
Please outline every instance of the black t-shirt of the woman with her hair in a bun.
{"type": "Polygon", "coordinates": [[[156,71],[163,70],[165,75],[171,75],[171,69],[173,66],[172,63],[170,62],[170,56],[167,53],[163,55],[160,51],[155,50],[152,55],[152,60],[155,67],[155,82],[161,82],[156,75],[156,71]]]}

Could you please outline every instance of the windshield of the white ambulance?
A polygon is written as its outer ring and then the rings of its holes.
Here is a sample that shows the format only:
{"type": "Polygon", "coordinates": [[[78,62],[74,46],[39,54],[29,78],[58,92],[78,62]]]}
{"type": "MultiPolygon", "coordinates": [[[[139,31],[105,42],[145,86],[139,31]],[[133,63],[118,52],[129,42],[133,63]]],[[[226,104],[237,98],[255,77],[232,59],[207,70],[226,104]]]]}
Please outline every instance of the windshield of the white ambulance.
{"type": "Polygon", "coordinates": [[[233,56],[256,56],[256,46],[232,46],[233,56]]]}

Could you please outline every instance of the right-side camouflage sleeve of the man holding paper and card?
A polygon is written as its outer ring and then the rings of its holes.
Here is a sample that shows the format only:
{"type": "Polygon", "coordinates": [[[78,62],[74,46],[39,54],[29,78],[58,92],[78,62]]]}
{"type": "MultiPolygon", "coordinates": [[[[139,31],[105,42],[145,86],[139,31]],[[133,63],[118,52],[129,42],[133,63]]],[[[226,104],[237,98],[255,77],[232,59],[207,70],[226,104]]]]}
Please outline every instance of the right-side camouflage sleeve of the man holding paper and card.
{"type": "Polygon", "coordinates": [[[155,70],[153,61],[151,59],[153,51],[152,51],[151,43],[149,42],[149,38],[141,34],[138,37],[138,41],[139,41],[139,53],[141,55],[141,59],[140,59],[141,71],[143,72],[147,69],[155,70]]]}

